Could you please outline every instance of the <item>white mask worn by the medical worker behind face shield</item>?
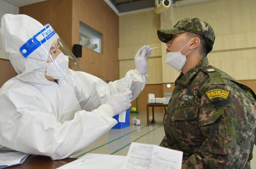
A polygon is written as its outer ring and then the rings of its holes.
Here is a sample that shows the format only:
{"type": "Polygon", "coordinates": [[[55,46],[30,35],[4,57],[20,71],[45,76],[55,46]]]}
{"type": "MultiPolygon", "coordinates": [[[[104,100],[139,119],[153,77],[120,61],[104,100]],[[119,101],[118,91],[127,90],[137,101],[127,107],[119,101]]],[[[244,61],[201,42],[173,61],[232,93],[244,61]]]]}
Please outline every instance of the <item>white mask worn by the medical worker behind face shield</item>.
{"type": "Polygon", "coordinates": [[[53,62],[46,63],[46,75],[54,79],[61,79],[68,75],[68,56],[60,53],[53,62]]]}

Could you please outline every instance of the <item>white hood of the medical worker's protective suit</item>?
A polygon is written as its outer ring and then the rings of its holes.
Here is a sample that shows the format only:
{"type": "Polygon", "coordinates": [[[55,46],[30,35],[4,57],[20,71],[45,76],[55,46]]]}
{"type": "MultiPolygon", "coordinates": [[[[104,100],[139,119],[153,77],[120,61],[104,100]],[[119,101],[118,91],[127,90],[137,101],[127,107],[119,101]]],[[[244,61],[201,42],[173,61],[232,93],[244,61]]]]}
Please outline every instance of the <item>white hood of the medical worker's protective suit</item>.
{"type": "MultiPolygon", "coordinates": [[[[10,62],[17,72],[17,78],[34,84],[49,84],[45,77],[47,57],[42,48],[37,48],[26,58],[20,53],[20,47],[31,37],[41,31],[44,26],[35,19],[24,14],[5,14],[1,20],[0,36],[5,51],[10,56],[10,62]]],[[[57,33],[43,44],[49,51],[53,42],[59,38],[57,33]]]]}

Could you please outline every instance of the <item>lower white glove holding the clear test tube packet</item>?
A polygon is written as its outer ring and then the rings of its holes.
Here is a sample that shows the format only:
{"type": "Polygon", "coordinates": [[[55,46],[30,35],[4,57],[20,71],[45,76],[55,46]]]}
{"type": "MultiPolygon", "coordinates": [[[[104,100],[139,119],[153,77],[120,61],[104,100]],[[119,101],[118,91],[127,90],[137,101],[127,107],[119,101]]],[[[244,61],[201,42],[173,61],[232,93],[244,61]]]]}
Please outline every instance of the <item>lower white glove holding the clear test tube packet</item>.
{"type": "Polygon", "coordinates": [[[112,107],[115,116],[127,110],[132,105],[131,99],[132,91],[129,90],[124,93],[113,94],[106,104],[109,104],[112,107]]]}

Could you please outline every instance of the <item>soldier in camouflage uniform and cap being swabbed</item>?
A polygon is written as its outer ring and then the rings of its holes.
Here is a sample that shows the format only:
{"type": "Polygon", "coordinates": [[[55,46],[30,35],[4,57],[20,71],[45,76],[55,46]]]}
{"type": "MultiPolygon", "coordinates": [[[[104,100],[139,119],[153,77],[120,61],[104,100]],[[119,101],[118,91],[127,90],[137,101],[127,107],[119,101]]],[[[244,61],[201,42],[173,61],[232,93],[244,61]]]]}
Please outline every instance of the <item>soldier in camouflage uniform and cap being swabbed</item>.
{"type": "Polygon", "coordinates": [[[160,146],[183,152],[182,169],[250,168],[256,96],[209,65],[206,56],[215,40],[212,27],[198,18],[185,18],[157,33],[168,46],[167,53],[183,46],[180,52],[188,53],[168,104],[160,146]]]}

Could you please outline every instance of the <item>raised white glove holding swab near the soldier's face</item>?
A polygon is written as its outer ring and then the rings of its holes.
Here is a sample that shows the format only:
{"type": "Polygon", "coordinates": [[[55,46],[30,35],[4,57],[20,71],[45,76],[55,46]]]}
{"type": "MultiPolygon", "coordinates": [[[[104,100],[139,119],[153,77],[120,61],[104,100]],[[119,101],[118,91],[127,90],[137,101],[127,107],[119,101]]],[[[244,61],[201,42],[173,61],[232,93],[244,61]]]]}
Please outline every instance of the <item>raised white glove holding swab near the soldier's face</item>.
{"type": "Polygon", "coordinates": [[[152,49],[150,49],[150,46],[143,46],[140,48],[137,52],[137,54],[134,57],[136,70],[140,74],[146,74],[148,69],[148,64],[146,62],[146,59],[149,57],[149,55],[152,53],[152,49]]]}

